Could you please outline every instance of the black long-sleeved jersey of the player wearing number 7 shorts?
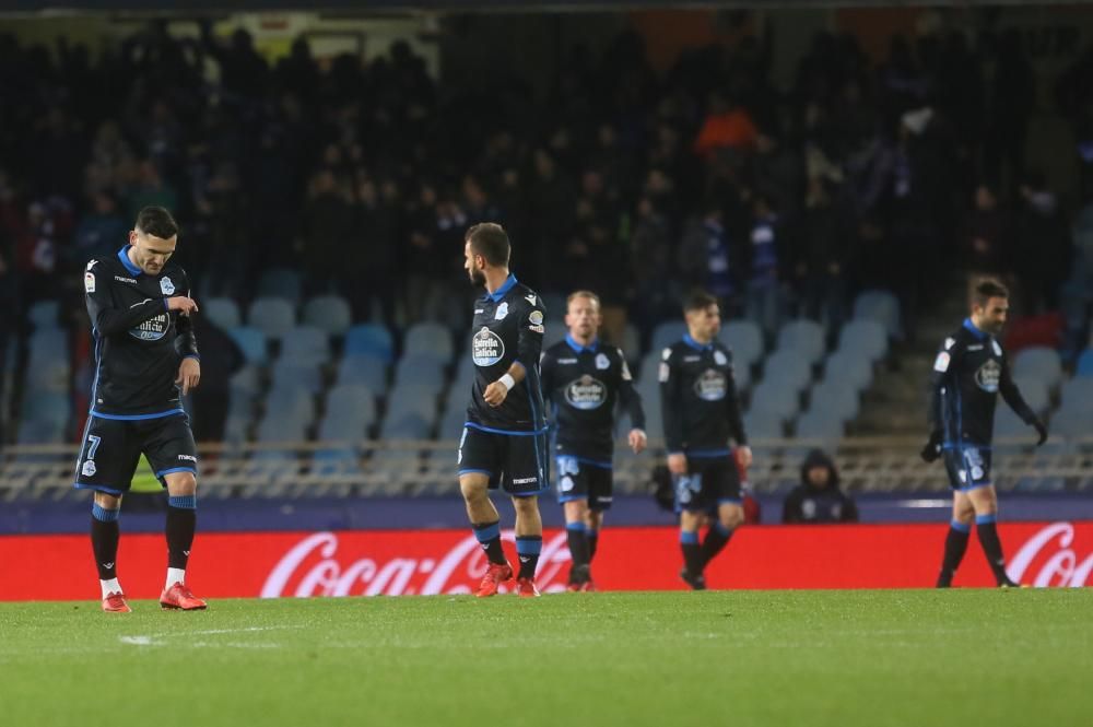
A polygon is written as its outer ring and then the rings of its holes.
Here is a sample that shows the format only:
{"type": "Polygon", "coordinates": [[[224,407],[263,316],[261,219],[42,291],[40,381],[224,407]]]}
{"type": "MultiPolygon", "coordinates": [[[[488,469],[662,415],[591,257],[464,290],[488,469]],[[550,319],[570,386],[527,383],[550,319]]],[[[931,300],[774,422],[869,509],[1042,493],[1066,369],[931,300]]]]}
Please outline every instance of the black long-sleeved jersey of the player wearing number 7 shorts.
{"type": "Polygon", "coordinates": [[[91,413],[105,419],[149,419],[180,413],[178,364],[198,355],[188,316],[167,310],[167,298],[189,295],[186,271],[169,260],[149,275],[128,256],[95,258],[83,289],[95,342],[91,413]]]}

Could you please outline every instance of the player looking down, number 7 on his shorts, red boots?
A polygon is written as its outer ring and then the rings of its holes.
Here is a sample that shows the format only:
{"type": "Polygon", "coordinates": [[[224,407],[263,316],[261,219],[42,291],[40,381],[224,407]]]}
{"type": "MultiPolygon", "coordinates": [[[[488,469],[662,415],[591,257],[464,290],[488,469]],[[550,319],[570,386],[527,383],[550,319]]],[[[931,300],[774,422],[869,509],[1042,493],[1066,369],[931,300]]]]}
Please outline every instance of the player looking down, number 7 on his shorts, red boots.
{"type": "Polygon", "coordinates": [[[181,397],[201,378],[186,272],[171,261],[178,225],[167,210],[146,207],[129,244],[87,262],[83,273],[95,340],[91,413],[77,462],[75,486],[93,490],[91,544],[103,610],[129,612],[118,583],[121,499],[143,453],[167,489],[167,581],[164,609],[203,609],[186,586],[197,520],[197,447],[181,397]]]}

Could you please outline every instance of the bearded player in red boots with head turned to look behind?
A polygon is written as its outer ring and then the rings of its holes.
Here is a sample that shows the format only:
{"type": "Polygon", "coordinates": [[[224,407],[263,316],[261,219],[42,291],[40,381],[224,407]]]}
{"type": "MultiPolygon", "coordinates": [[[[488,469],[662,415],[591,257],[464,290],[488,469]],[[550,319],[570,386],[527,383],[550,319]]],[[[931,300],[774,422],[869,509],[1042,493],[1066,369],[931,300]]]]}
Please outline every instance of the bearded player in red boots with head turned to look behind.
{"type": "Polygon", "coordinates": [[[536,566],[543,543],[538,496],[550,486],[546,421],[539,376],[543,342],[542,300],[508,271],[508,234],[483,222],[467,231],[465,268],[485,288],[474,303],[471,360],[474,384],[459,441],[459,490],[474,537],[490,561],[479,598],[513,578],[501,547],[501,517],[489,490],[501,488],[516,509],[516,593],[539,596],[536,566]]]}

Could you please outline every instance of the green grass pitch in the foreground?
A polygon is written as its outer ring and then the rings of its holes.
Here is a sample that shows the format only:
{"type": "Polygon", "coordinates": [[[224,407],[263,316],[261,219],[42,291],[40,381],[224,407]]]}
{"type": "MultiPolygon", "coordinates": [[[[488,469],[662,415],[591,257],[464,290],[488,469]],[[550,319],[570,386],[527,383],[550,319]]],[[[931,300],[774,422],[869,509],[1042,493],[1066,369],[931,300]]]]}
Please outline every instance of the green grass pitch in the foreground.
{"type": "Polygon", "coordinates": [[[0,724],[1093,725],[1093,590],[0,606],[0,724]]]}

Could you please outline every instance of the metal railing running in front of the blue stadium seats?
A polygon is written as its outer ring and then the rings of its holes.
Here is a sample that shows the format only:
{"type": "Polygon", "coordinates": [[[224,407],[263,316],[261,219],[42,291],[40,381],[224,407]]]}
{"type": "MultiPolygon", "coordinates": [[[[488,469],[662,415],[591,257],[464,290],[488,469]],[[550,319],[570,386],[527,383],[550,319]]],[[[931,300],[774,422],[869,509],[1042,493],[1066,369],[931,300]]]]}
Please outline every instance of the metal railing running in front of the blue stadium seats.
{"type": "MultiPolygon", "coordinates": [[[[756,493],[781,492],[800,481],[813,447],[833,453],[850,492],[944,492],[940,464],[927,465],[922,442],[907,437],[756,439],[748,479],[756,493]]],[[[381,496],[454,493],[456,449],[451,441],[208,443],[199,446],[201,491],[213,497],[381,496]],[[338,453],[332,455],[331,453],[338,453]]],[[[72,496],[75,445],[12,446],[0,450],[0,501],[72,496]]],[[[647,493],[663,447],[651,441],[635,456],[620,443],[618,492],[647,493]]],[[[1043,448],[1026,437],[998,439],[994,481],[1000,490],[1093,491],[1093,436],[1056,439],[1043,448]]]]}

